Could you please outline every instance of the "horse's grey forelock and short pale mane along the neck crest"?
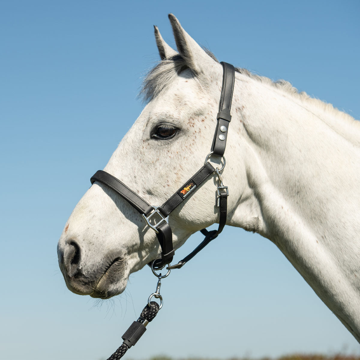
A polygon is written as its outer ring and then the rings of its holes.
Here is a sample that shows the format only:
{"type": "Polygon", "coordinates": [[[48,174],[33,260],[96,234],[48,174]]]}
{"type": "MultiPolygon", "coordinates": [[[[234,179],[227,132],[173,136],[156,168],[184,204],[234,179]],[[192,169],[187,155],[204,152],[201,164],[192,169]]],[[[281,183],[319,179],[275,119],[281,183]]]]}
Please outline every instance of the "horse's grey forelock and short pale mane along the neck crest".
{"type": "MultiPolygon", "coordinates": [[[[206,48],[204,48],[204,50],[212,59],[214,59],[216,62],[219,62],[219,60],[217,60],[215,55],[211,53],[210,50],[206,48]]],[[[171,58],[161,60],[154,68],[150,69],[147,75],[145,75],[139,93],[140,98],[142,98],[144,102],[149,102],[150,100],[155,98],[163,89],[170,86],[175,80],[176,76],[178,76],[182,71],[188,68],[189,67],[186,65],[184,59],[179,54],[171,58]]],[[[249,78],[260,81],[264,84],[273,86],[286,94],[291,94],[295,98],[300,99],[304,102],[315,105],[316,107],[322,109],[324,112],[330,113],[336,117],[340,117],[348,122],[350,121],[351,123],[354,123],[354,121],[355,123],[358,123],[358,121],[356,121],[354,117],[344,111],[335,108],[332,104],[320,99],[312,98],[305,91],[299,92],[297,88],[292,86],[289,81],[273,81],[266,76],[257,75],[252,73],[248,69],[239,67],[235,67],[235,71],[240,74],[246,75],[249,78]]],[[[357,125],[360,125],[360,123],[357,125]]]]}

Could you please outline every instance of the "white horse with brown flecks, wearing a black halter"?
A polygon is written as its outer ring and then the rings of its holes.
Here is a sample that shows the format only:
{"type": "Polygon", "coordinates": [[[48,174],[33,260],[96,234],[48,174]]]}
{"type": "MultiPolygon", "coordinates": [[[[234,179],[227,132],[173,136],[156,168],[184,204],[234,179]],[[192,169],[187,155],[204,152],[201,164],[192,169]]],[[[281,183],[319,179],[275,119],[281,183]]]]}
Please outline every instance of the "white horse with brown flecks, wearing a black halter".
{"type": "MultiPolygon", "coordinates": [[[[105,171],[158,205],[211,148],[222,67],[169,15],[178,52],[155,27],[162,61],[145,78],[148,104],[105,171]]],[[[332,105],[244,69],[235,72],[224,183],[227,224],[270,239],[360,342],[360,123],[332,105]]],[[[96,169],[94,169],[96,170],[96,169]]],[[[219,221],[215,175],[170,215],[174,247],[219,221]]],[[[67,287],[108,298],[159,257],[153,230],[95,183],[58,244],[67,287]]]]}

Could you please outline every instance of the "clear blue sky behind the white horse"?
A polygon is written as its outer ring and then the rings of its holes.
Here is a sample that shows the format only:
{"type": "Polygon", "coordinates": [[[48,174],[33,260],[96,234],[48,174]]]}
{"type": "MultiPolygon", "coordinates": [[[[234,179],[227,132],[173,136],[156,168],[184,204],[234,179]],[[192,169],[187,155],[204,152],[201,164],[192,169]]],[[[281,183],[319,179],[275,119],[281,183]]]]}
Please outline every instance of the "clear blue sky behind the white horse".
{"type": "MultiPolygon", "coordinates": [[[[360,118],[359,1],[1,1],[0,359],[105,359],[156,287],[144,268],[113,300],[75,295],[56,245],[143,107],[153,24],[175,46],[170,12],[220,60],[360,118]]],[[[241,229],[226,228],[161,290],[163,309],[128,358],[360,353],[282,253],[241,229]]]]}

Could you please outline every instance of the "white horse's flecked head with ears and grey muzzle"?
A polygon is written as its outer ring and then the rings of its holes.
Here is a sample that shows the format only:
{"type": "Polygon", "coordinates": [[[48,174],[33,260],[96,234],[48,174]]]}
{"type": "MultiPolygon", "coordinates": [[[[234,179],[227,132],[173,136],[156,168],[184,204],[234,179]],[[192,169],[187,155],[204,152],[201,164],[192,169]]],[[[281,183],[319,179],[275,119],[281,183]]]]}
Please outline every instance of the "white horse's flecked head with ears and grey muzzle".
{"type": "MultiPolygon", "coordinates": [[[[163,203],[203,165],[211,148],[222,86],[221,64],[184,31],[174,15],[169,18],[178,52],[155,27],[161,62],[144,80],[141,93],[147,105],[104,169],[153,205],[163,203]]],[[[230,148],[233,138],[229,136],[230,148]]],[[[232,150],[236,156],[239,150],[232,150]]],[[[224,176],[235,181],[237,175],[229,168],[224,176]]],[[[195,231],[219,220],[215,183],[216,177],[209,177],[191,201],[171,213],[175,249],[195,231]]],[[[129,275],[160,252],[156,234],[141,215],[98,182],[76,205],[58,243],[67,287],[100,298],[124,291],[129,275]]]]}

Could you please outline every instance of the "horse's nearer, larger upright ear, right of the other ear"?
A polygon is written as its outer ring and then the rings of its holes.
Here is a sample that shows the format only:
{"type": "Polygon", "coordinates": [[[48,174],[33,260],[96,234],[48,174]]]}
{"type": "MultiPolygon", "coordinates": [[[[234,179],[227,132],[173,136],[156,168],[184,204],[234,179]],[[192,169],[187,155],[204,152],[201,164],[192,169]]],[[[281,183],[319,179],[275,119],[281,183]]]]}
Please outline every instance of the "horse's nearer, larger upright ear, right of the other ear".
{"type": "Polygon", "coordinates": [[[213,65],[215,60],[181,27],[179,20],[173,14],[168,16],[174,32],[176,47],[181,57],[196,75],[205,73],[207,66],[213,65]]]}

